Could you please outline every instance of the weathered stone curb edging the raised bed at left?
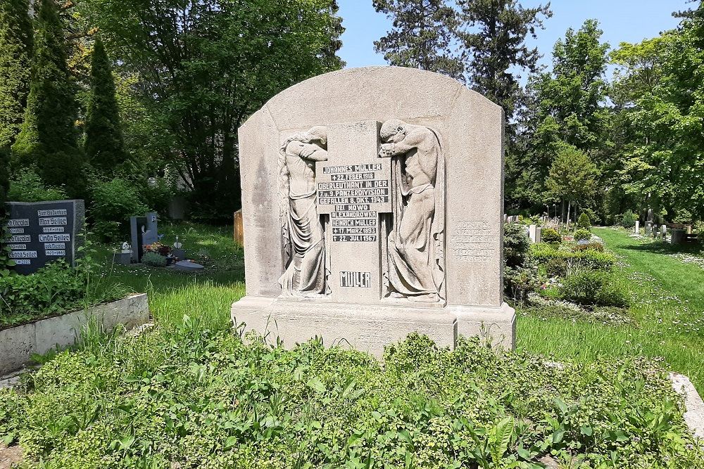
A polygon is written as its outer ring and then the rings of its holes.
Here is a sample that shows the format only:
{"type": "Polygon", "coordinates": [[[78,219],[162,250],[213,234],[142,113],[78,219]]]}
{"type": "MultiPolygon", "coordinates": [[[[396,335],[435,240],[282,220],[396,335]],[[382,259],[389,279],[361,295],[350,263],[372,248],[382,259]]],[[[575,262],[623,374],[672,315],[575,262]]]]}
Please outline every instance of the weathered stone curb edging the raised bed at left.
{"type": "Polygon", "coordinates": [[[139,293],[89,309],[0,330],[0,376],[25,366],[31,361],[32,354],[45,354],[57,345],[68,347],[75,344],[82,326],[93,317],[108,332],[118,324],[127,329],[141,326],[149,321],[147,295],[139,293]]]}

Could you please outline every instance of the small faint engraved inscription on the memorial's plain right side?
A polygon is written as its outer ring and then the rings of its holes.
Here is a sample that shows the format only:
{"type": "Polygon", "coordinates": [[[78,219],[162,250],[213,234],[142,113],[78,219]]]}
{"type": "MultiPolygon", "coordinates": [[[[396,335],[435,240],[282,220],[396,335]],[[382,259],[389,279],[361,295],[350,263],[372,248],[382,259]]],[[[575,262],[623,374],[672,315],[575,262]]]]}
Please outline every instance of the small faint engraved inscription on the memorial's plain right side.
{"type": "Polygon", "coordinates": [[[498,235],[488,221],[460,220],[450,238],[453,254],[466,262],[484,262],[496,255],[498,235]]]}

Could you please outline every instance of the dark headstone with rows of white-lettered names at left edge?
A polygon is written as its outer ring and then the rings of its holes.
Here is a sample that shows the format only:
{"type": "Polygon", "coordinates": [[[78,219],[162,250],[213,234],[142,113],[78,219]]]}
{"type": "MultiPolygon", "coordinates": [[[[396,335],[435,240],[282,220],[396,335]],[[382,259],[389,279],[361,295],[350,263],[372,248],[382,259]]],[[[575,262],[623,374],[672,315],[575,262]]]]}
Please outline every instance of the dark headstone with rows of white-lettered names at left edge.
{"type": "Polygon", "coordinates": [[[85,221],[83,200],[8,202],[7,239],[18,274],[32,274],[56,259],[73,265],[85,221]]]}

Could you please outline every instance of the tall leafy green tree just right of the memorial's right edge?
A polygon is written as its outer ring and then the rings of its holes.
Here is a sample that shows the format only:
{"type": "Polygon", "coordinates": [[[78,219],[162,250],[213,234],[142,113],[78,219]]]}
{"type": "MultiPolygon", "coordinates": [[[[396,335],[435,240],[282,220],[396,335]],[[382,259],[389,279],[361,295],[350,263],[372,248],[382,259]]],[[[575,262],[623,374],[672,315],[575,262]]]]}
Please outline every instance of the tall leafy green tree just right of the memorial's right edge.
{"type": "Polygon", "coordinates": [[[601,169],[612,144],[605,106],[608,44],[596,20],[555,43],[552,72],[530,77],[518,118],[518,150],[507,157],[507,205],[540,207],[558,151],[567,144],[589,154],[601,169]]]}

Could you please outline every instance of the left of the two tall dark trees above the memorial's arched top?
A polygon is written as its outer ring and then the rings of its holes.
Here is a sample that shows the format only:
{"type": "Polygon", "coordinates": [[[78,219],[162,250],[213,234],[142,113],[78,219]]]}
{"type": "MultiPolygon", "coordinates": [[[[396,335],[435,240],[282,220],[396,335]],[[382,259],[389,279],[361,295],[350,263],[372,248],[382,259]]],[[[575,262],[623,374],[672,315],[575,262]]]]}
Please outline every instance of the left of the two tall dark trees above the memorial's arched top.
{"type": "Polygon", "coordinates": [[[458,12],[443,0],[372,0],[379,13],[393,20],[391,31],[374,42],[391,65],[463,76],[462,60],[453,48],[458,12]]]}

